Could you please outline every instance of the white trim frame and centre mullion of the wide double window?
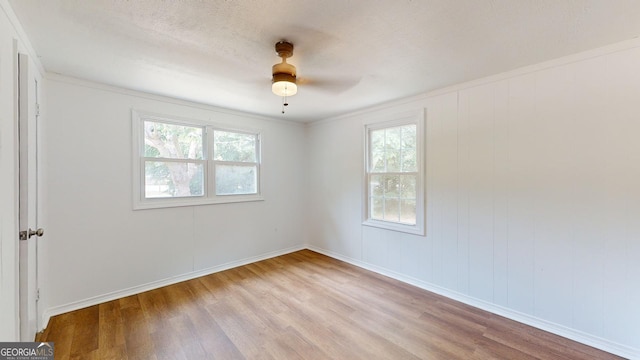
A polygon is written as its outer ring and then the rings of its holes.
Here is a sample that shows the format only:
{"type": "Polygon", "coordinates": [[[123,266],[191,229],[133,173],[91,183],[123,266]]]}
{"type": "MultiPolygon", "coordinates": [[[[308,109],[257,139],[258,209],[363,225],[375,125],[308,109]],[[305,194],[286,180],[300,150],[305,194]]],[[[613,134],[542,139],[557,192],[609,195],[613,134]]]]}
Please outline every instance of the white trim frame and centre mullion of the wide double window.
{"type": "MultiPolygon", "coordinates": [[[[141,110],[131,110],[131,128],[132,128],[132,157],[133,157],[133,210],[158,209],[180,206],[197,206],[212,204],[227,204],[249,201],[263,201],[262,195],[262,131],[256,129],[239,128],[218,124],[210,121],[187,119],[179,116],[161,115],[141,110]],[[173,198],[144,198],[144,170],[142,168],[144,162],[142,156],[144,152],[144,141],[142,141],[142,126],[144,121],[158,121],[163,123],[186,125],[186,126],[202,126],[205,130],[204,144],[202,151],[205,153],[204,160],[194,160],[193,162],[204,163],[204,171],[206,172],[204,195],[197,197],[173,197],[173,198]],[[212,151],[210,145],[213,144],[213,130],[239,132],[245,134],[257,135],[256,155],[257,155],[257,194],[248,195],[215,195],[215,184],[210,179],[215,177],[214,165],[216,161],[212,159],[212,151]]],[[[243,163],[246,165],[246,163],[243,163]]]]}

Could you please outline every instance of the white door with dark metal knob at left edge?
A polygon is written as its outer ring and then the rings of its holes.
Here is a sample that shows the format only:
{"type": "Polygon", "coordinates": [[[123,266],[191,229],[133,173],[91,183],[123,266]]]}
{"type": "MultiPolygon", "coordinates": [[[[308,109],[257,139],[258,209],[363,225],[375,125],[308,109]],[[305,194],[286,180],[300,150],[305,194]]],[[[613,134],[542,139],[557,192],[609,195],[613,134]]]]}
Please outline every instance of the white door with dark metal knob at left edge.
{"type": "Polygon", "coordinates": [[[34,341],[37,332],[38,148],[36,83],[29,58],[18,56],[18,140],[20,206],[20,340],[34,341]]]}

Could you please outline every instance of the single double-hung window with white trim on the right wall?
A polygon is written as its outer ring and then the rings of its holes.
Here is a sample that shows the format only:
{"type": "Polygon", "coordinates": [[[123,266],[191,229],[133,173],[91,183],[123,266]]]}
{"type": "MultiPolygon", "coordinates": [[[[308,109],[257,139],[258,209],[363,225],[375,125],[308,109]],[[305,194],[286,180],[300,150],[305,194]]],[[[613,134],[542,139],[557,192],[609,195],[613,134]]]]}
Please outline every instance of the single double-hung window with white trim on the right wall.
{"type": "Polygon", "coordinates": [[[368,124],[365,225],[424,235],[424,115],[368,124]]]}

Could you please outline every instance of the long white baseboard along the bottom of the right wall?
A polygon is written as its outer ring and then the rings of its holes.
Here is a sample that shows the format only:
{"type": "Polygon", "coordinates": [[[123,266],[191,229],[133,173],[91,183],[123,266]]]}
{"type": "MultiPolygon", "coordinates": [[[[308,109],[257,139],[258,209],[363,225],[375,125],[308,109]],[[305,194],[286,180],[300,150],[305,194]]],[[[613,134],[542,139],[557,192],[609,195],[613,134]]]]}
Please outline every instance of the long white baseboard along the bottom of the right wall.
{"type": "Polygon", "coordinates": [[[568,328],[563,325],[555,324],[555,323],[537,318],[535,316],[531,316],[531,315],[521,313],[512,309],[508,309],[496,304],[492,304],[484,300],[476,299],[455,291],[445,289],[443,287],[440,287],[431,283],[424,282],[422,280],[418,280],[418,279],[391,271],[389,269],[385,269],[385,268],[382,268],[373,264],[369,264],[357,259],[346,257],[343,255],[331,252],[329,250],[321,249],[313,245],[307,245],[307,249],[332,257],[337,260],[344,261],[351,265],[355,265],[357,267],[370,270],[381,275],[388,276],[390,278],[402,281],[404,283],[411,284],[421,289],[436,293],[438,295],[442,295],[444,297],[459,301],[467,305],[471,305],[473,307],[488,311],[490,313],[503,316],[507,319],[511,319],[529,326],[533,326],[535,328],[548,331],[552,334],[556,334],[556,335],[565,337],[567,339],[571,339],[573,341],[577,341],[579,343],[609,352],[611,354],[622,356],[627,359],[640,359],[640,349],[618,344],[607,339],[603,339],[603,338],[600,338],[591,334],[587,334],[572,328],[568,328]]]}

